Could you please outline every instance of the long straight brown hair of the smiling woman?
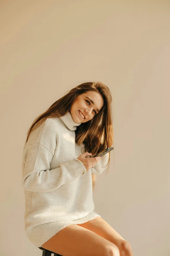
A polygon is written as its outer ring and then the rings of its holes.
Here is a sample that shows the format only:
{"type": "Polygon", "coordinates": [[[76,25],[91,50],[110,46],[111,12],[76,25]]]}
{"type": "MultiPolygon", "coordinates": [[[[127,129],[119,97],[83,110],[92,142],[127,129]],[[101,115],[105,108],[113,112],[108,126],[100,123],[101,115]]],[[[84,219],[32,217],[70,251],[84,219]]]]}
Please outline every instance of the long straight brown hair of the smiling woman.
{"type": "MultiPolygon", "coordinates": [[[[94,115],[91,120],[85,123],[81,123],[81,125],[77,127],[77,129],[75,130],[75,143],[77,145],[84,143],[84,152],[92,153],[92,155],[96,155],[104,151],[106,147],[111,147],[113,145],[111,108],[112,97],[109,88],[102,82],[98,81],[82,83],[71,89],[62,98],[55,101],[47,111],[39,115],[34,120],[30,129],[28,130],[25,144],[27,143],[31,131],[38,128],[47,118],[57,118],[60,116],[64,116],[68,111],[70,111],[71,106],[74,103],[75,99],[78,97],[78,95],[87,93],[88,91],[93,91],[101,94],[104,100],[104,104],[99,113],[94,115]]],[[[109,167],[110,152],[108,154],[109,159],[107,164],[109,167]]],[[[106,166],[103,166],[103,168],[104,167],[106,166]]],[[[95,179],[96,175],[92,174],[93,190],[95,186],[95,179]]]]}

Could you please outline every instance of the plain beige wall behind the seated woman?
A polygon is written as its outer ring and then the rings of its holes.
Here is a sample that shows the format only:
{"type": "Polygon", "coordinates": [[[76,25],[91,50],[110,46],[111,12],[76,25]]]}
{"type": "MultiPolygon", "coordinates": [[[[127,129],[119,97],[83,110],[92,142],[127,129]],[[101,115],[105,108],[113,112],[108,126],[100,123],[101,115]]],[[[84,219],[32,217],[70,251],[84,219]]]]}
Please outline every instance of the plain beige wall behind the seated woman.
{"type": "Polygon", "coordinates": [[[40,256],[24,231],[22,150],[34,119],[68,90],[112,93],[114,154],[95,211],[134,256],[169,256],[170,2],[0,1],[1,255],[40,256]]]}

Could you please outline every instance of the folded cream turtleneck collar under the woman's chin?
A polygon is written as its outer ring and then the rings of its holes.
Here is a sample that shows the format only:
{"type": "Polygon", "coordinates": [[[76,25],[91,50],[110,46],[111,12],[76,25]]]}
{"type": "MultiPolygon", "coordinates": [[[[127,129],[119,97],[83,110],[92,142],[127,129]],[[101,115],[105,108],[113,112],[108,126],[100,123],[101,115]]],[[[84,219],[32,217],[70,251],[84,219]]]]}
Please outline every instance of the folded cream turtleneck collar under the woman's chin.
{"type": "Polygon", "coordinates": [[[81,125],[81,123],[76,123],[71,115],[71,113],[68,111],[64,116],[58,117],[59,122],[66,126],[70,131],[75,131],[77,129],[77,126],[81,125]]]}

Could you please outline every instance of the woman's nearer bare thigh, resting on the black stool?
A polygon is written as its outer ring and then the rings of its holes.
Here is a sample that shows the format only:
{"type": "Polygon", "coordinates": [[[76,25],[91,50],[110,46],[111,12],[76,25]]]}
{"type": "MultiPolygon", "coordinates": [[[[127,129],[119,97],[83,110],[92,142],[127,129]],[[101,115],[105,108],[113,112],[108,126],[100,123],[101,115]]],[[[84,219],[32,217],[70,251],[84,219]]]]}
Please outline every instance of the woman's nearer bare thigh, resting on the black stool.
{"type": "Polygon", "coordinates": [[[41,247],[63,256],[120,256],[116,245],[77,224],[66,226],[41,247]]]}

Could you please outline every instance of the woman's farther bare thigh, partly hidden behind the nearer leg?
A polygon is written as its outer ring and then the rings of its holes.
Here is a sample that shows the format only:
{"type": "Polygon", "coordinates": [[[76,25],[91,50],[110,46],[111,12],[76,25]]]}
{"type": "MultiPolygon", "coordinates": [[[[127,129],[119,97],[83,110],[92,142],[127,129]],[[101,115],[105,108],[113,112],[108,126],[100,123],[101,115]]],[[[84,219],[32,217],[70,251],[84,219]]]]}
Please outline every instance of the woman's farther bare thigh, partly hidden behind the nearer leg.
{"type": "Polygon", "coordinates": [[[104,219],[99,216],[88,222],[77,225],[102,236],[111,243],[115,244],[119,249],[121,248],[122,242],[126,241],[118,232],[116,232],[116,230],[114,230],[104,219]]]}

